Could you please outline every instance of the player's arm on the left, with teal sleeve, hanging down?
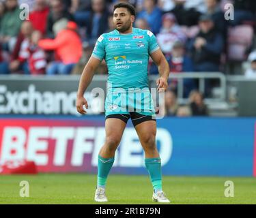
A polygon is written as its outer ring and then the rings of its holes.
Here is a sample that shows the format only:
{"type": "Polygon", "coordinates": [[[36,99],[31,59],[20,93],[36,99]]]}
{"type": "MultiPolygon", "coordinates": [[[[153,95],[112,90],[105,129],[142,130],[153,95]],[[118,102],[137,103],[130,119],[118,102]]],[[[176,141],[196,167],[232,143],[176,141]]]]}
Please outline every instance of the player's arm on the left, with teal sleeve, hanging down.
{"type": "Polygon", "coordinates": [[[83,69],[83,74],[81,75],[79,82],[79,90],[77,91],[76,96],[76,110],[81,114],[86,113],[83,106],[88,109],[88,103],[85,97],[83,97],[83,94],[85,93],[87,87],[89,87],[89,84],[91,83],[91,80],[94,76],[94,72],[96,71],[98,65],[100,65],[100,62],[102,61],[102,59],[104,59],[104,57],[104,37],[103,35],[100,35],[94,47],[94,51],[92,52],[92,55],[87,65],[85,65],[85,69],[83,69]]]}

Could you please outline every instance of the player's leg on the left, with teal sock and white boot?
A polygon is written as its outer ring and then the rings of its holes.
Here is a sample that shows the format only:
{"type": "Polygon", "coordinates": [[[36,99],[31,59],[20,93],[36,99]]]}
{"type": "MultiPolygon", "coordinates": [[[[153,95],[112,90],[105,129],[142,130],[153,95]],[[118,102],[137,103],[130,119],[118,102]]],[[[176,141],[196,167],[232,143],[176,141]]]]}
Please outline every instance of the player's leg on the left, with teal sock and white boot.
{"type": "Polygon", "coordinates": [[[129,115],[127,114],[106,116],[106,139],[98,155],[98,181],[95,194],[97,202],[107,201],[105,194],[106,179],[115,161],[115,151],[122,139],[128,119],[129,115]],[[124,116],[127,118],[123,119],[124,116]]]}

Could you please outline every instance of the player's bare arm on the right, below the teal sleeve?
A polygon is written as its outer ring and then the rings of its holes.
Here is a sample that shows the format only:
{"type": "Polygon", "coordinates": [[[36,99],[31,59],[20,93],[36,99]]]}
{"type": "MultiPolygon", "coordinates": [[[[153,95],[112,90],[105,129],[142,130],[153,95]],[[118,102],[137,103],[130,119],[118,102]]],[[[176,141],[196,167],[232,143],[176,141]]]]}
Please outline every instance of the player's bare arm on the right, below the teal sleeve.
{"type": "Polygon", "coordinates": [[[168,78],[170,74],[170,67],[169,63],[167,62],[167,59],[165,58],[165,55],[162,54],[162,50],[160,48],[152,54],[150,54],[150,57],[153,59],[154,63],[158,66],[158,72],[160,74],[160,78],[156,80],[156,85],[158,86],[158,91],[161,90],[167,90],[168,87],[168,78]],[[161,89],[162,88],[162,89],[161,89]]]}

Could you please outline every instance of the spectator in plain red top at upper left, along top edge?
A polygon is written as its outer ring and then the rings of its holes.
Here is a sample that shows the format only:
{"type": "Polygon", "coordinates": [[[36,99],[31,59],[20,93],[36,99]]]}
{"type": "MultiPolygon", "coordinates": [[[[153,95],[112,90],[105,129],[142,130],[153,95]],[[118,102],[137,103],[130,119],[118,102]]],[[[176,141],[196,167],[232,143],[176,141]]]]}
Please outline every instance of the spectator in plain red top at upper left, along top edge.
{"type": "Polygon", "coordinates": [[[29,20],[32,22],[33,29],[40,31],[43,35],[46,33],[48,14],[46,0],[35,0],[34,10],[29,14],[29,20]]]}

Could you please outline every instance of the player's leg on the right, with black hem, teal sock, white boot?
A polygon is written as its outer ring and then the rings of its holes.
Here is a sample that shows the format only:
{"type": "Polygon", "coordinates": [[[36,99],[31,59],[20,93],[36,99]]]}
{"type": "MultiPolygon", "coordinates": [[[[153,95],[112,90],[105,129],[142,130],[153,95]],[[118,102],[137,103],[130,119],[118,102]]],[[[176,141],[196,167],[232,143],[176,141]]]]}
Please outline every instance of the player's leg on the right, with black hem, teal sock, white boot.
{"type": "Polygon", "coordinates": [[[165,193],[162,191],[161,159],[156,149],[156,121],[152,119],[152,116],[134,113],[132,123],[145,151],[145,167],[150,174],[154,189],[153,200],[157,202],[169,202],[165,197],[165,193]]]}

